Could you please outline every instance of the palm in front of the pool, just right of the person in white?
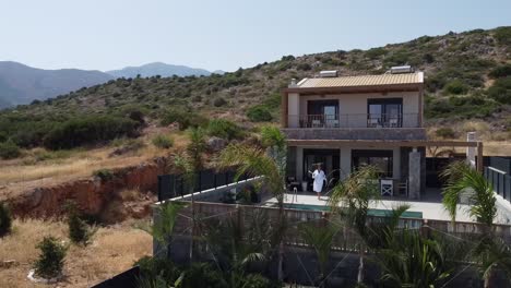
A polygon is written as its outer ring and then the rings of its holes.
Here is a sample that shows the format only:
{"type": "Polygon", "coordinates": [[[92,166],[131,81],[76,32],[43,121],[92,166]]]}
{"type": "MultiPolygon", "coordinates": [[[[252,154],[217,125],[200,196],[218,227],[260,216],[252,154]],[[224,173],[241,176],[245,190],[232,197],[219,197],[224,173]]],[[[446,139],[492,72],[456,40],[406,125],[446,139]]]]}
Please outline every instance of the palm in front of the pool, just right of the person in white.
{"type": "MultiPolygon", "coordinates": [[[[369,203],[378,199],[378,169],[373,166],[365,166],[352,172],[346,179],[338,182],[332,190],[329,205],[332,213],[341,213],[347,220],[347,225],[354,228],[363,239],[367,239],[366,226],[369,203]],[[340,208],[340,204],[343,207],[340,208]]],[[[359,266],[357,283],[364,283],[365,245],[359,242],[359,266]]]]}

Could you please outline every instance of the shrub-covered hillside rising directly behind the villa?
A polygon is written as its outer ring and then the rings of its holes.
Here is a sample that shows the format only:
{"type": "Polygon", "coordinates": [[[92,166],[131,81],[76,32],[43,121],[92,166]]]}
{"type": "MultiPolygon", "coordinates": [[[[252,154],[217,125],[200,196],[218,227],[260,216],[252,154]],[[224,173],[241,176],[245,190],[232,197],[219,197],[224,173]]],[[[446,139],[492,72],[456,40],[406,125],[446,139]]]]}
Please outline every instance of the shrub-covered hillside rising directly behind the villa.
{"type": "MultiPolygon", "coordinates": [[[[333,69],[341,75],[383,73],[392,65],[411,64],[426,73],[427,125],[455,128],[468,119],[491,140],[507,140],[511,129],[510,39],[511,27],[476,29],[369,50],[285,56],[223,75],[111,80],[5,110],[0,113],[0,131],[4,139],[29,147],[41,145],[62,122],[98,116],[127,118],[133,111],[155,124],[177,120],[188,125],[221,117],[251,127],[250,120],[278,121],[280,91],[292,79],[333,69]]],[[[463,136],[464,129],[474,128],[456,128],[442,136],[463,136]]]]}

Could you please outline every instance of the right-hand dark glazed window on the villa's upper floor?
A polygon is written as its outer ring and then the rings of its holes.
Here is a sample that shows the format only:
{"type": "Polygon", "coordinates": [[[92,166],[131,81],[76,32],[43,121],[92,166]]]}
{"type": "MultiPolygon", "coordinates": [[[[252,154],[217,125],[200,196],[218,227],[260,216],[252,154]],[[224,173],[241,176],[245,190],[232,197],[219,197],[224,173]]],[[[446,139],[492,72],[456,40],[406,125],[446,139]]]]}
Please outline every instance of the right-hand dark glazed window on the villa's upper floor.
{"type": "Polygon", "coordinates": [[[367,99],[367,127],[403,127],[403,98],[367,99]]]}

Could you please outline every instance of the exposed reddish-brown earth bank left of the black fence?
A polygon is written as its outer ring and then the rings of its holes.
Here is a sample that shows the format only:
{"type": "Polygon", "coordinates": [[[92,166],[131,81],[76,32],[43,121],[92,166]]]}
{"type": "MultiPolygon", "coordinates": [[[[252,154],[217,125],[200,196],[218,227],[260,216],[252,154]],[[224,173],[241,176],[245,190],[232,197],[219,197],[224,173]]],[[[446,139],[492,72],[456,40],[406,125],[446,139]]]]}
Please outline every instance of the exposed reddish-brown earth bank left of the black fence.
{"type": "Polygon", "coordinates": [[[158,157],[136,166],[114,169],[112,177],[108,180],[92,177],[37,188],[10,200],[10,207],[16,217],[59,217],[64,213],[64,204],[73,201],[82,212],[100,215],[110,202],[116,201],[121,190],[155,192],[157,176],[166,172],[167,161],[166,158],[158,157]]]}

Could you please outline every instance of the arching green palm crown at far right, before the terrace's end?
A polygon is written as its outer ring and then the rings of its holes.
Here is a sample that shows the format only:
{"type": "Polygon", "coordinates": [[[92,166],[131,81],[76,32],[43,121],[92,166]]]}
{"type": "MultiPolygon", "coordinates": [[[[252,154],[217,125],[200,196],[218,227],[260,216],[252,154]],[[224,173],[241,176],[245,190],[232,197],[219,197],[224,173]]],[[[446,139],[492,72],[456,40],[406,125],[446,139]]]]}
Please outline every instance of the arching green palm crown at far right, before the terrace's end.
{"type": "Polygon", "coordinates": [[[467,211],[468,215],[476,218],[478,223],[485,224],[489,229],[497,215],[497,206],[494,188],[485,176],[463,161],[455,161],[445,168],[442,177],[448,180],[442,192],[442,203],[452,221],[455,221],[456,218],[460,195],[464,192],[471,192],[472,203],[467,211]]]}

